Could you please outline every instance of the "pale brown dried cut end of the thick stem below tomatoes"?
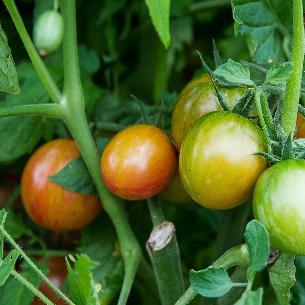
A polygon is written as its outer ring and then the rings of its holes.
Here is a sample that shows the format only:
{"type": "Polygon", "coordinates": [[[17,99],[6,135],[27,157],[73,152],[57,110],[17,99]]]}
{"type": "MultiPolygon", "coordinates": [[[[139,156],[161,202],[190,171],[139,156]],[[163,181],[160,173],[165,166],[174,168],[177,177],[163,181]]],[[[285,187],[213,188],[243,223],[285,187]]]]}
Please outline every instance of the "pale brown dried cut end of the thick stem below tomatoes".
{"type": "Polygon", "coordinates": [[[157,225],[146,242],[146,249],[149,254],[153,257],[154,251],[163,249],[171,241],[175,231],[175,226],[170,221],[163,221],[157,225]]]}

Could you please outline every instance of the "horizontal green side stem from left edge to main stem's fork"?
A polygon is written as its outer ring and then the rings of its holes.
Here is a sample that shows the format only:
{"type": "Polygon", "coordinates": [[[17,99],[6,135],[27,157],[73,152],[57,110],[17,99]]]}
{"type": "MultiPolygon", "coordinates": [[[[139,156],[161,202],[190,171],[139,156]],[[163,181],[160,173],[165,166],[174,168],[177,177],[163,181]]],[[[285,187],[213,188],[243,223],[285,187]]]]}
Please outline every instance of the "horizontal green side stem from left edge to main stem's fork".
{"type": "Polygon", "coordinates": [[[59,104],[34,104],[0,108],[0,117],[21,115],[40,115],[46,117],[63,117],[63,107],[59,104]]]}

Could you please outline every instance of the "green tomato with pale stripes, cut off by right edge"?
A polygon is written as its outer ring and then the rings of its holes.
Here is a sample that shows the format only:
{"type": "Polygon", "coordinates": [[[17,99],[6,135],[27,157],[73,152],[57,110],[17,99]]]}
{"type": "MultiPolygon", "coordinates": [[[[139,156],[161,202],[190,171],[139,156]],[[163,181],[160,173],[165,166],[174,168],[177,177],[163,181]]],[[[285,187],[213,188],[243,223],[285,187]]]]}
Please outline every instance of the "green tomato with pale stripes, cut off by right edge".
{"type": "Polygon", "coordinates": [[[268,168],[255,185],[253,212],[275,248],[305,255],[305,160],[284,160],[268,168]]]}

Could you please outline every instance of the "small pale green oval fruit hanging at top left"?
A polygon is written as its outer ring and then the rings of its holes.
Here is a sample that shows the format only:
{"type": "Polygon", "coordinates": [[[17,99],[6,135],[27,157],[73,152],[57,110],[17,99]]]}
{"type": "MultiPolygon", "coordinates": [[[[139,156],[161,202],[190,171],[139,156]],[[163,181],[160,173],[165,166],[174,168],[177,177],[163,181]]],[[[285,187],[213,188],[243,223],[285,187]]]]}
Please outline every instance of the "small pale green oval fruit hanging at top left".
{"type": "Polygon", "coordinates": [[[39,54],[46,56],[58,49],[63,40],[63,20],[59,12],[45,11],[34,23],[33,41],[39,54]]]}

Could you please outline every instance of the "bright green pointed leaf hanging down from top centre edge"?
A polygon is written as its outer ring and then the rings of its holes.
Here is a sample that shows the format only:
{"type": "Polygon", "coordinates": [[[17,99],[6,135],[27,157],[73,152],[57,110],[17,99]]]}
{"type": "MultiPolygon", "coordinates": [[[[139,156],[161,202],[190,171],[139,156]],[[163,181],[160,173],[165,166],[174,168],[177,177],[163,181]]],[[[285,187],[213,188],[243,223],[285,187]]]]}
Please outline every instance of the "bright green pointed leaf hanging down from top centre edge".
{"type": "Polygon", "coordinates": [[[152,24],[167,49],[170,45],[170,0],[146,0],[152,24]]]}

